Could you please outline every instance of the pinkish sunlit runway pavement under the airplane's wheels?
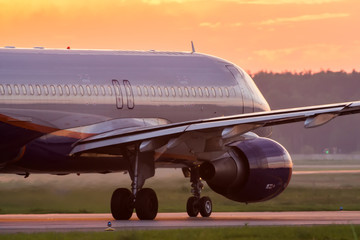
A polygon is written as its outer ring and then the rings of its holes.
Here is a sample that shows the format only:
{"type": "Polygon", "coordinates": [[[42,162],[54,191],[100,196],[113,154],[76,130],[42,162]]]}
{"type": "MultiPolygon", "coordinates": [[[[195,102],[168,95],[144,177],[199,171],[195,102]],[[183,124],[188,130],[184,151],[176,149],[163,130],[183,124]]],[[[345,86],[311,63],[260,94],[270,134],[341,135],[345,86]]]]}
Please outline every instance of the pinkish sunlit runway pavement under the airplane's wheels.
{"type": "Polygon", "coordinates": [[[111,214],[11,214],[0,215],[0,233],[105,231],[108,221],[119,230],[195,227],[294,226],[360,224],[360,211],[327,212],[215,212],[210,218],[190,218],[186,213],[159,213],[154,221],[115,221],[111,214]]]}

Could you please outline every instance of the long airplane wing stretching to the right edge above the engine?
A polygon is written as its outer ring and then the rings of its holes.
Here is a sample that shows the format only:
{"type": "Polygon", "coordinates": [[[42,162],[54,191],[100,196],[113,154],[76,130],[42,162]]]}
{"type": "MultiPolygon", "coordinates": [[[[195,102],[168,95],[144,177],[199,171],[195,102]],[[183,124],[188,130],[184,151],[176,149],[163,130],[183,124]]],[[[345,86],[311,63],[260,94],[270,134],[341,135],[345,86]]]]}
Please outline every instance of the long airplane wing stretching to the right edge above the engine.
{"type": "Polygon", "coordinates": [[[260,127],[300,121],[304,121],[305,128],[312,128],[323,125],[337,116],[356,113],[360,113],[360,101],[201,119],[128,131],[115,129],[78,141],[70,155],[135,143],[139,144],[141,152],[164,145],[171,147],[179,141],[181,135],[192,132],[214,133],[223,139],[231,139],[260,127]]]}

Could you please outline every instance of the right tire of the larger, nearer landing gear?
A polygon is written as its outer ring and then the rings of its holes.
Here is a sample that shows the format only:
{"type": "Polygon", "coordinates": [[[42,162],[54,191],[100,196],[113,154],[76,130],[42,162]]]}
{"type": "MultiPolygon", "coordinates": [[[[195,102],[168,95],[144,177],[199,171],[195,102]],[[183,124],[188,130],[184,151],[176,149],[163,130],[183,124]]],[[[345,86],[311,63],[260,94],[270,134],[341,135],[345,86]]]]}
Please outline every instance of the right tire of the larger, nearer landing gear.
{"type": "Polygon", "coordinates": [[[136,215],[140,220],[153,220],[158,212],[158,199],[151,188],[143,188],[136,194],[136,215]]]}

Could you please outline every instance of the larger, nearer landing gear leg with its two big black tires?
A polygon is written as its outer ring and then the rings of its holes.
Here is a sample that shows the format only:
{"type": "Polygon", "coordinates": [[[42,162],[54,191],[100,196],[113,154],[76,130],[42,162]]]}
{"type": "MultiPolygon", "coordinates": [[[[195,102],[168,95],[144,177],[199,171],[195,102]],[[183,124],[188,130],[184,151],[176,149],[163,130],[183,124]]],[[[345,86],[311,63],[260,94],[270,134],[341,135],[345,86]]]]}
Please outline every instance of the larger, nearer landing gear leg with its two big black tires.
{"type": "Polygon", "coordinates": [[[145,180],[155,173],[152,155],[141,154],[136,149],[129,172],[132,179],[131,191],[126,188],[114,191],[111,197],[111,213],[116,220],[129,220],[135,209],[140,220],[153,220],[158,212],[156,193],[151,188],[142,188],[145,180]]]}

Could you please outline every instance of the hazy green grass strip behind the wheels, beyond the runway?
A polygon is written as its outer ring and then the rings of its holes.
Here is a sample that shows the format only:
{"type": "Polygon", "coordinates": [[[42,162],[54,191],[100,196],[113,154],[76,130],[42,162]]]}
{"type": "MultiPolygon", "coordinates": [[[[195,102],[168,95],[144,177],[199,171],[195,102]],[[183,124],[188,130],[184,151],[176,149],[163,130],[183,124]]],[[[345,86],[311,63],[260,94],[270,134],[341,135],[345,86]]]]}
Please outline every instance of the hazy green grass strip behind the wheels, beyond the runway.
{"type": "MultiPolygon", "coordinates": [[[[155,189],[157,190],[157,189],[155,189]]],[[[0,214],[41,213],[108,213],[113,189],[72,189],[54,192],[48,187],[38,189],[0,190],[0,214]]],[[[183,212],[190,194],[179,189],[157,190],[159,212],[183,212]]],[[[211,190],[214,211],[337,211],[360,210],[360,188],[291,187],[280,196],[266,202],[244,204],[226,199],[211,190]]]]}

